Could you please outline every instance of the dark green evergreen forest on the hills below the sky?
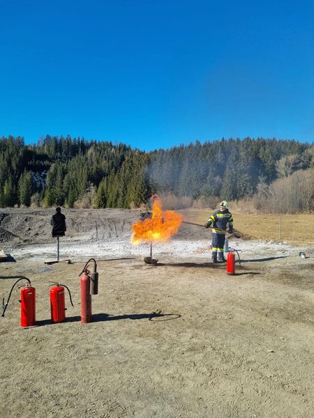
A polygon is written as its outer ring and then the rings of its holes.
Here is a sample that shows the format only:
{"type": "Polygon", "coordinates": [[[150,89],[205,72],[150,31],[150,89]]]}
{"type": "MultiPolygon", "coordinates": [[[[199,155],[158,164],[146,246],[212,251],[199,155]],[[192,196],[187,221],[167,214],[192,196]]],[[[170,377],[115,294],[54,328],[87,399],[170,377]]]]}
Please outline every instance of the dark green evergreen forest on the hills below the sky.
{"type": "Polygon", "coordinates": [[[222,139],[146,153],[124,144],[50,137],[25,145],[0,139],[0,207],[138,207],[151,193],[254,196],[294,171],[314,167],[313,144],[222,139]]]}

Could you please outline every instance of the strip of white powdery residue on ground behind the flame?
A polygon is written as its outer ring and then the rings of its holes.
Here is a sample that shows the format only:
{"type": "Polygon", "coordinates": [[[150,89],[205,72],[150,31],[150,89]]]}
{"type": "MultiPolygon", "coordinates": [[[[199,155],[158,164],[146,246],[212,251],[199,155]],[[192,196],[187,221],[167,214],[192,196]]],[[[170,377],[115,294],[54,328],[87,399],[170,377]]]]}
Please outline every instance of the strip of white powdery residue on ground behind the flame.
{"type": "MultiPolygon", "coordinates": [[[[52,240],[51,240],[52,241],[52,240]]],[[[130,238],[119,240],[68,240],[60,238],[60,258],[70,258],[71,261],[82,258],[119,258],[149,256],[149,243],[132,245],[130,238]]],[[[299,256],[302,251],[306,256],[313,256],[313,249],[306,247],[291,247],[290,245],[274,242],[234,240],[229,242],[230,249],[239,252],[242,261],[254,261],[263,258],[287,258],[299,256]]],[[[43,245],[24,245],[23,247],[8,247],[7,253],[13,258],[23,258],[27,261],[40,261],[56,256],[56,241],[43,245]]],[[[209,240],[170,240],[153,245],[154,258],[179,260],[181,258],[200,258],[211,260],[209,240]]]]}

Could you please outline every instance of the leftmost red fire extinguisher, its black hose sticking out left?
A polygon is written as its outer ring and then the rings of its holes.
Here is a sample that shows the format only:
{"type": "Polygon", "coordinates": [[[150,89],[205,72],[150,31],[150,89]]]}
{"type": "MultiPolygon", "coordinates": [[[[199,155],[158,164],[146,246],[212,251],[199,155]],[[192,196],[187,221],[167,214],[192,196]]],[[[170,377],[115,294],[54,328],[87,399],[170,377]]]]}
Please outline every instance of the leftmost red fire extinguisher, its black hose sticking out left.
{"type": "Polygon", "coordinates": [[[8,300],[5,303],[4,299],[2,302],[2,316],[4,316],[6,312],[6,308],[8,307],[8,302],[10,300],[10,297],[13,292],[13,288],[15,288],[15,285],[21,281],[21,280],[27,280],[27,284],[24,284],[20,287],[21,288],[21,326],[22,327],[31,327],[32,325],[35,325],[36,323],[36,289],[31,286],[31,281],[27,279],[27,277],[21,277],[17,281],[15,281],[15,284],[13,284],[10,293],[8,295],[8,300]]]}

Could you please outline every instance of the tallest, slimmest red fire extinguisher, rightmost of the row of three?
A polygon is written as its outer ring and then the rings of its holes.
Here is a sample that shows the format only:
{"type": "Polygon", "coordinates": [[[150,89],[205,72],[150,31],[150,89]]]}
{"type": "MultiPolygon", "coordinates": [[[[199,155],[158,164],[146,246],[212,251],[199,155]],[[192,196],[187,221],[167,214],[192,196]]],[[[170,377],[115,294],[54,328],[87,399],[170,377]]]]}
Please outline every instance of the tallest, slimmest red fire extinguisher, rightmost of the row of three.
{"type": "Polygon", "coordinates": [[[94,258],[90,258],[85,264],[82,272],[79,276],[84,273],[81,277],[81,323],[90,323],[93,318],[91,315],[91,295],[98,294],[98,272],[96,271],[97,265],[94,258]],[[88,263],[94,261],[94,272],[90,273],[87,270],[88,263]]]}

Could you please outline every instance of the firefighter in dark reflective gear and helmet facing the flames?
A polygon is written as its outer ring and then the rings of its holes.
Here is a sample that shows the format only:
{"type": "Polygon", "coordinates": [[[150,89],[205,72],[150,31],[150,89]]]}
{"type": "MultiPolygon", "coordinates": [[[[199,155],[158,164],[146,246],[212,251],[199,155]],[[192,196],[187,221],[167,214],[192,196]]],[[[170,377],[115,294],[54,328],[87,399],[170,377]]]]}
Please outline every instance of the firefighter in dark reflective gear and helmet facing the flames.
{"type": "Polygon", "coordinates": [[[219,261],[225,263],[223,256],[223,246],[225,245],[225,233],[232,233],[233,219],[229,212],[228,202],[222,201],[219,203],[219,209],[215,210],[213,215],[207,220],[205,227],[209,228],[213,224],[213,234],[211,238],[211,258],[213,263],[219,261]],[[228,231],[227,231],[228,224],[228,231]]]}

